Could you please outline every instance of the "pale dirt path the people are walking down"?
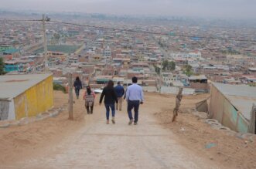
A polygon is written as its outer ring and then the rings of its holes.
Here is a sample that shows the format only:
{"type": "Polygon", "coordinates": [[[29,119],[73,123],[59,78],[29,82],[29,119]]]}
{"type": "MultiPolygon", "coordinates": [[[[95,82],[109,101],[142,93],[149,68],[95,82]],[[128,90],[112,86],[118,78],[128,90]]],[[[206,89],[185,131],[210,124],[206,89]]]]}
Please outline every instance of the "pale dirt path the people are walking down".
{"type": "MultiPolygon", "coordinates": [[[[145,99],[137,126],[128,126],[126,105],[117,112],[116,124],[105,124],[104,106],[96,104],[94,114],[84,116],[83,126],[59,144],[0,168],[223,168],[181,146],[155,119],[158,107],[169,106],[169,100],[153,94],[145,99]]],[[[82,100],[74,104],[77,110],[83,105],[82,100]]]]}

